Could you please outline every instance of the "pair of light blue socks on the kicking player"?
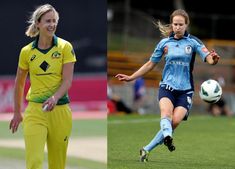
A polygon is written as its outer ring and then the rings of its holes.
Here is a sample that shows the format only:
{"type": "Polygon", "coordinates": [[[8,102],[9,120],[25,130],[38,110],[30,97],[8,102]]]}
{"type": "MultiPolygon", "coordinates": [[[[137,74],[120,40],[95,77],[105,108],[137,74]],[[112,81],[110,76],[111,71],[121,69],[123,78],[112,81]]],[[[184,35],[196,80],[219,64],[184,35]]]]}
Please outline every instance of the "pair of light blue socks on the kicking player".
{"type": "Polygon", "coordinates": [[[144,150],[151,151],[156,146],[161,145],[163,143],[163,140],[166,136],[172,137],[172,121],[168,118],[162,118],[160,121],[161,129],[160,131],[155,135],[155,137],[151,140],[151,142],[144,147],[144,150]]]}

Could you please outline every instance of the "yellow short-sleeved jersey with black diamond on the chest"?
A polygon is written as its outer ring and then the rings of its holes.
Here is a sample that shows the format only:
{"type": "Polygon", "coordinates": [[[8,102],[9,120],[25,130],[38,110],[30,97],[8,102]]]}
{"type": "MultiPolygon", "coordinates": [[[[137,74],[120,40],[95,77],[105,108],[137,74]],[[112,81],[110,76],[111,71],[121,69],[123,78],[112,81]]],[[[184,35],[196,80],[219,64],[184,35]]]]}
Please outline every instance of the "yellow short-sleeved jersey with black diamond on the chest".
{"type": "MultiPolygon", "coordinates": [[[[76,62],[72,45],[59,37],[53,37],[53,46],[47,50],[37,48],[38,38],[21,49],[19,64],[28,70],[30,88],[26,99],[43,103],[51,97],[62,83],[63,64],[76,62]]],[[[69,103],[68,94],[58,101],[58,105],[69,103]]]]}

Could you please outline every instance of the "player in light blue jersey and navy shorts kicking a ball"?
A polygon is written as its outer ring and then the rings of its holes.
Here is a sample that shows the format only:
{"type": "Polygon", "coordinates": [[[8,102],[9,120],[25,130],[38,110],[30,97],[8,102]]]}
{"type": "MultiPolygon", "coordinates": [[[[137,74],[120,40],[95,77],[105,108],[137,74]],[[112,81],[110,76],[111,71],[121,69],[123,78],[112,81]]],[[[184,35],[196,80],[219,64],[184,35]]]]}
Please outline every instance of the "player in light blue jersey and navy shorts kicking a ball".
{"type": "Polygon", "coordinates": [[[120,81],[132,81],[151,71],[164,56],[165,66],[159,84],[159,107],[161,112],[160,131],[150,143],[140,150],[140,161],[148,161],[149,152],[164,143],[169,151],[176,148],[173,144],[173,130],[181,121],[187,120],[192,106],[194,93],[193,65],[196,53],[210,65],[219,61],[215,51],[209,52],[205,45],[186,29],[189,25],[188,14],[181,9],[170,16],[170,24],[157,23],[165,37],[156,46],[150,60],[131,76],[117,74],[120,81]]]}

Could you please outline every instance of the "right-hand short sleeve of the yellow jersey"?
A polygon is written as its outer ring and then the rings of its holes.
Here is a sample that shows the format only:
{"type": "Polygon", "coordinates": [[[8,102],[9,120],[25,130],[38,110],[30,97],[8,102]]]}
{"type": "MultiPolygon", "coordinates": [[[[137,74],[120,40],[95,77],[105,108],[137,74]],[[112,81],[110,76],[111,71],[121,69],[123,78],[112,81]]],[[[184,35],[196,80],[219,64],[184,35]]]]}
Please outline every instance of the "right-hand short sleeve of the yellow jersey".
{"type": "Polygon", "coordinates": [[[63,54],[64,54],[63,64],[69,62],[76,62],[76,55],[73,50],[73,46],[69,42],[65,44],[63,54]]]}

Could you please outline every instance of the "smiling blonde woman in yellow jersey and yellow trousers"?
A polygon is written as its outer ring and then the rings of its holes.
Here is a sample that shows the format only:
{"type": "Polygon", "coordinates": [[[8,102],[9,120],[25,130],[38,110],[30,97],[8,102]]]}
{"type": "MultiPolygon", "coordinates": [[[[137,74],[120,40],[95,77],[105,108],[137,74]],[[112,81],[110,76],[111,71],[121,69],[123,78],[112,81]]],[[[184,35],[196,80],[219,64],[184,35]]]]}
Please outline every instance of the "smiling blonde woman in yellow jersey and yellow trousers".
{"type": "Polygon", "coordinates": [[[76,57],[72,45],[55,35],[59,14],[53,6],[39,6],[29,20],[26,35],[35,38],[21,49],[15,80],[14,116],[10,129],[23,121],[26,168],[42,169],[47,144],[50,169],[64,169],[72,128],[68,89],[76,57]],[[21,103],[27,75],[28,106],[22,116],[21,103]]]}

